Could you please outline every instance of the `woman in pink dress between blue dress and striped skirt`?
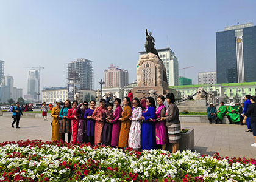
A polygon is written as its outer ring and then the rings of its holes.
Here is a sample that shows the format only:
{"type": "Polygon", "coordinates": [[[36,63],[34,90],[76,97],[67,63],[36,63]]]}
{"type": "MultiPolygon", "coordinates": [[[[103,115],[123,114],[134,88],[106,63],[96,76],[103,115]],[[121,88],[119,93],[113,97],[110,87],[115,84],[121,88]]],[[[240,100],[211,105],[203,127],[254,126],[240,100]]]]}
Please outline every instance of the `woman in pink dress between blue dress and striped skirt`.
{"type": "Polygon", "coordinates": [[[159,121],[161,117],[165,117],[166,107],[163,104],[165,101],[165,97],[163,95],[159,95],[157,97],[158,108],[155,114],[157,115],[157,119],[155,119],[155,137],[157,140],[157,145],[162,145],[162,150],[166,149],[166,144],[168,141],[167,138],[167,127],[165,126],[165,121],[159,121]]]}

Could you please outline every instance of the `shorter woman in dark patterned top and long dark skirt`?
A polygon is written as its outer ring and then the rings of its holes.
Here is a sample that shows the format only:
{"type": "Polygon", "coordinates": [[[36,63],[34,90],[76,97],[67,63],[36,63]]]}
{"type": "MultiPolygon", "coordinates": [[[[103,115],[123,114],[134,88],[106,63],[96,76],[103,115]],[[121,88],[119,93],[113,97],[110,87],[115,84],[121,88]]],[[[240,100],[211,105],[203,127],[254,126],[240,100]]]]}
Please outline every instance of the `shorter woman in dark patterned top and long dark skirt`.
{"type": "Polygon", "coordinates": [[[102,116],[102,120],[104,121],[104,127],[102,131],[102,143],[105,146],[110,146],[111,144],[111,135],[112,135],[112,123],[110,122],[113,120],[113,103],[107,104],[107,110],[102,116]]]}

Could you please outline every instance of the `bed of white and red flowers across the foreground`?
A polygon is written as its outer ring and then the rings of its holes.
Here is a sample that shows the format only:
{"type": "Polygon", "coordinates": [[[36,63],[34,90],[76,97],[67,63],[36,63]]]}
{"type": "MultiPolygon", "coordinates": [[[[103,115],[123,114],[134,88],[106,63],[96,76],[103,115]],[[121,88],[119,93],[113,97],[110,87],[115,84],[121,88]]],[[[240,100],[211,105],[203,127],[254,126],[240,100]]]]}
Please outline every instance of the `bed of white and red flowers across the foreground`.
{"type": "Polygon", "coordinates": [[[190,150],[136,152],[41,140],[0,144],[0,181],[256,181],[255,164],[190,150]]]}

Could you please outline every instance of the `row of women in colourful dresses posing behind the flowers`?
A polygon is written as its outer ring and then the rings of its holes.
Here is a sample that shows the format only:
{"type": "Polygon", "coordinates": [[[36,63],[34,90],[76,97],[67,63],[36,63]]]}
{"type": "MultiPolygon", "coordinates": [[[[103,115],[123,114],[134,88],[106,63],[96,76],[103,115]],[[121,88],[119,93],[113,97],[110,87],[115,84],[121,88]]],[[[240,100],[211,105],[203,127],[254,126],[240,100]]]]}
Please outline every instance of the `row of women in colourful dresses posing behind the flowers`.
{"type": "Polygon", "coordinates": [[[179,109],[176,106],[173,93],[168,93],[166,98],[157,97],[157,105],[152,97],[146,98],[146,109],[141,107],[138,98],[116,98],[116,106],[113,111],[113,103],[105,99],[100,100],[100,106],[95,107],[96,102],[84,102],[78,105],[77,101],[65,101],[65,106],[60,107],[61,101],[56,102],[52,109],[52,140],[65,141],[65,133],[68,133],[68,142],[105,144],[106,146],[136,150],[157,149],[157,145],[163,150],[166,144],[172,144],[172,152],[179,150],[180,121],[179,109]],[[168,108],[163,104],[165,99],[168,108]]]}

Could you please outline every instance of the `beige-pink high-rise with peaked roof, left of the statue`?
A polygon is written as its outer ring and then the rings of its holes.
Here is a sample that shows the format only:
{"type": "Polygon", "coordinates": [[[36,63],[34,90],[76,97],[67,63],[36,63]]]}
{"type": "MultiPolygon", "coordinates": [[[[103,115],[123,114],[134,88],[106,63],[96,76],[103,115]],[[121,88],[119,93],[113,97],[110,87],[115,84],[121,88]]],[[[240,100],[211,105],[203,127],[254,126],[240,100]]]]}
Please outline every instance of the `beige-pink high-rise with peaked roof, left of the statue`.
{"type": "Polygon", "coordinates": [[[105,88],[123,88],[129,83],[129,74],[127,70],[111,65],[104,71],[104,80],[105,88]]]}

